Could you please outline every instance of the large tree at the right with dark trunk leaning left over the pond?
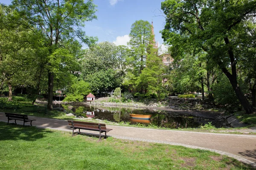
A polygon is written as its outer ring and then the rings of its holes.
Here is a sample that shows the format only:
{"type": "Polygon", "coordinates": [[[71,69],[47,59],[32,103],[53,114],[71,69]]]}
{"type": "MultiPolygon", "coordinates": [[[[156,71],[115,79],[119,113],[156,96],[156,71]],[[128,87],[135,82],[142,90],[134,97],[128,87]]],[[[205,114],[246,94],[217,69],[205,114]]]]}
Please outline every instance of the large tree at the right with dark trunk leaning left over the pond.
{"type": "Polygon", "coordinates": [[[256,1],[166,0],[161,8],[166,15],[162,36],[172,44],[174,53],[182,53],[186,45],[207,52],[229,79],[244,110],[252,113],[254,109],[237,81],[236,64],[247,34],[246,21],[255,14],[256,1]]]}

